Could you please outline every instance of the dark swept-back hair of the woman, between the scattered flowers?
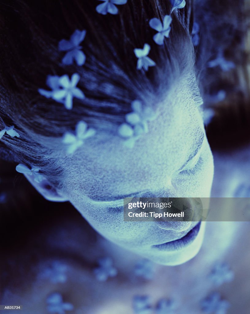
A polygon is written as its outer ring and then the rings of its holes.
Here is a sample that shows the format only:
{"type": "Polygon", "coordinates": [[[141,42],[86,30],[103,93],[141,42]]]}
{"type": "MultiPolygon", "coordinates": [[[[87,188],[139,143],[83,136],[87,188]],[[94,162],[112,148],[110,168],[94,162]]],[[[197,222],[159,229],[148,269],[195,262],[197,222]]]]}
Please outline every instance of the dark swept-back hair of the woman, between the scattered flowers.
{"type": "Polygon", "coordinates": [[[20,133],[18,139],[4,136],[0,151],[41,167],[55,184],[53,177],[61,170],[55,166],[53,138],[58,141],[81,119],[99,128],[122,123],[133,100],[157,102],[182,77],[195,84],[191,3],[172,13],[170,38],[163,46],[154,43],[149,20],[170,14],[170,1],[129,0],[119,6],[119,14],[104,16],[96,12],[97,5],[93,0],[0,2],[0,130],[4,122],[20,133]],[[58,42],[76,29],[87,30],[83,67],[63,65],[58,51],[58,42]],[[136,69],[133,52],[144,43],[151,46],[149,57],[157,64],[148,72],[136,69]],[[78,86],[86,96],[74,99],[72,110],[38,93],[47,89],[47,75],[66,73],[79,73],[78,86]]]}

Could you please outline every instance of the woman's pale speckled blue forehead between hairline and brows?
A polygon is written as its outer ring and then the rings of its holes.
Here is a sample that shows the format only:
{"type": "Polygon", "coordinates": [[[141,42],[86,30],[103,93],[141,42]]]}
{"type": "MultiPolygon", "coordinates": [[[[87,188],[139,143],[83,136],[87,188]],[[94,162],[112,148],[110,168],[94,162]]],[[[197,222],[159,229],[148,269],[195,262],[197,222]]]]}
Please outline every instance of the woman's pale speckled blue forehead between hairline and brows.
{"type": "Polygon", "coordinates": [[[192,100],[179,95],[157,106],[157,118],[133,149],[108,134],[79,149],[72,161],[75,189],[93,198],[128,195],[161,187],[197,149],[204,137],[202,119],[192,100]]]}

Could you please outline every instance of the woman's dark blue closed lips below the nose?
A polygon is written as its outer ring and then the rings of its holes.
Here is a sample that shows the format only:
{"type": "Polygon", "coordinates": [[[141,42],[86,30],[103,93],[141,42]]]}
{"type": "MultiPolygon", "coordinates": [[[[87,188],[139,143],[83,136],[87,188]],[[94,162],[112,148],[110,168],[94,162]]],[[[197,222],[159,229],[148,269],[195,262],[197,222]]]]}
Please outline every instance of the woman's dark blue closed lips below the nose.
{"type": "Polygon", "coordinates": [[[184,247],[189,246],[197,238],[200,230],[201,222],[193,227],[185,236],[178,240],[153,245],[152,248],[158,249],[160,251],[180,251],[184,247]]]}

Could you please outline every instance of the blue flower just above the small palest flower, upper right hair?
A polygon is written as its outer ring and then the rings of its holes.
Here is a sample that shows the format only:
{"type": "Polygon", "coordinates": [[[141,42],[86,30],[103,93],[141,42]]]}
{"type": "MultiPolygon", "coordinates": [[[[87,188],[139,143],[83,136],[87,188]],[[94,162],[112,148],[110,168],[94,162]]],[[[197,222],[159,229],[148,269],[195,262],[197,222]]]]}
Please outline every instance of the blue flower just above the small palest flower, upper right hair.
{"type": "Polygon", "coordinates": [[[153,37],[157,45],[163,45],[164,38],[169,37],[171,22],[172,18],[170,15],[164,16],[163,23],[161,23],[160,19],[157,18],[153,18],[149,21],[150,27],[158,31],[158,33],[153,37]]]}

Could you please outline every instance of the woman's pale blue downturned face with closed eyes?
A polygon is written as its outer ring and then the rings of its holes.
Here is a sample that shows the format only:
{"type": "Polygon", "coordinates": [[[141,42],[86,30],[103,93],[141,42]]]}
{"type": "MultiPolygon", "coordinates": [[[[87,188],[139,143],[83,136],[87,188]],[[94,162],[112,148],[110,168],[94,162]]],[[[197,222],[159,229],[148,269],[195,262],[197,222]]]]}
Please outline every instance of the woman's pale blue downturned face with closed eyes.
{"type": "Polygon", "coordinates": [[[149,122],[149,132],[133,149],[126,148],[119,136],[96,135],[76,151],[65,170],[63,193],[95,230],[165,265],[196,255],[204,224],[124,222],[122,206],[128,196],[210,196],[213,158],[198,107],[186,95],[172,94],[157,106],[158,117],[149,122]],[[167,242],[171,243],[159,246],[167,242]]]}

